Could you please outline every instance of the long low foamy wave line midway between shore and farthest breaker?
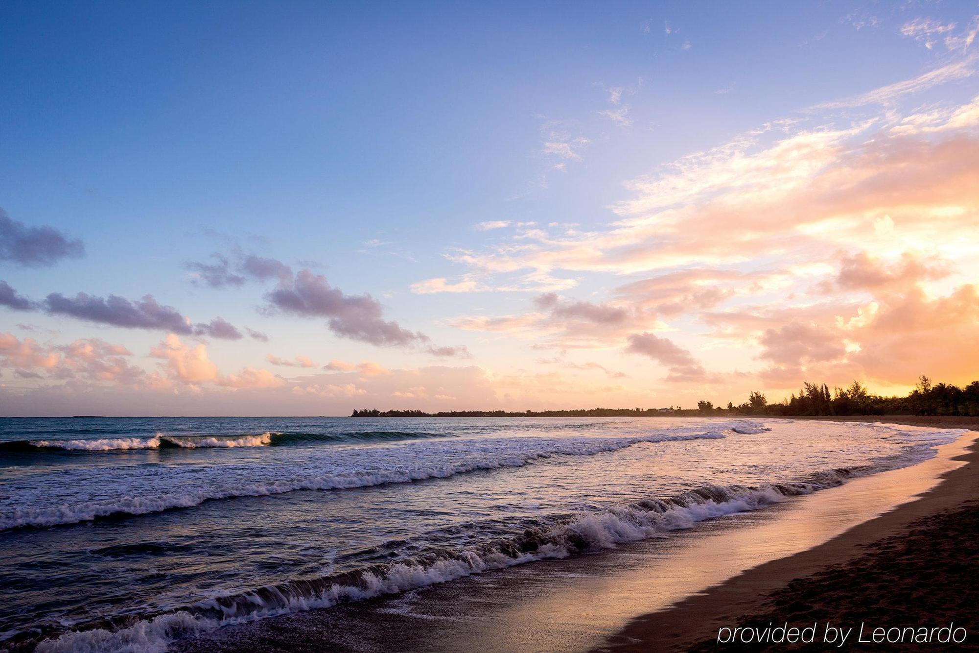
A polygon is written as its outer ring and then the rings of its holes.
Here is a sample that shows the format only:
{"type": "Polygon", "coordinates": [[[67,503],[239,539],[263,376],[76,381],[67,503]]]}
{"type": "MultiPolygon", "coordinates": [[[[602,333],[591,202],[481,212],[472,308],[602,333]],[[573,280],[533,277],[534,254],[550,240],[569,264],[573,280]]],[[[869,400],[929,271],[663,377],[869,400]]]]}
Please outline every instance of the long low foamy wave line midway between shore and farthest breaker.
{"type": "MultiPolygon", "coordinates": [[[[268,433],[259,436],[265,438],[268,433]]],[[[239,496],[265,496],[282,494],[296,490],[332,490],[351,487],[367,487],[389,483],[403,483],[426,478],[447,478],[480,470],[524,467],[554,456],[594,456],[596,454],[618,451],[644,442],[668,442],[694,439],[720,439],[722,432],[659,434],[630,437],[601,442],[555,443],[545,451],[529,453],[510,453],[496,458],[458,465],[422,467],[414,470],[373,470],[354,473],[325,474],[314,477],[283,478],[274,481],[239,483],[223,487],[213,487],[191,492],[167,492],[154,496],[130,497],[84,501],[49,508],[16,508],[0,513],[0,530],[17,527],[51,527],[79,522],[91,522],[100,518],[146,515],[173,508],[192,508],[206,501],[239,496]]],[[[219,445],[217,445],[219,446],[219,445]]],[[[227,446],[227,445],[225,445],[227,446]]],[[[236,445],[232,445],[236,446],[236,445]]],[[[255,446],[255,445],[237,445],[255,446]]]]}

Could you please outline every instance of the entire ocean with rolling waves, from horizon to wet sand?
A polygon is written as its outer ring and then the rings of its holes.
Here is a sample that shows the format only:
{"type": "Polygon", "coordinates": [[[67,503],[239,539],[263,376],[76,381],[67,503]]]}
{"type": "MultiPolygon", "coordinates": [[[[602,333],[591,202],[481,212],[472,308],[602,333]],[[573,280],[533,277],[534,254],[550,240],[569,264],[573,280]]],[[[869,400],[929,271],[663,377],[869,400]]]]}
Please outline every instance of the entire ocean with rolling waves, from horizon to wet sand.
{"type": "MultiPolygon", "coordinates": [[[[0,419],[0,648],[202,632],[626,542],[961,430],[762,419],[0,419]]],[[[614,554],[613,554],[614,555],[614,554]]]]}

